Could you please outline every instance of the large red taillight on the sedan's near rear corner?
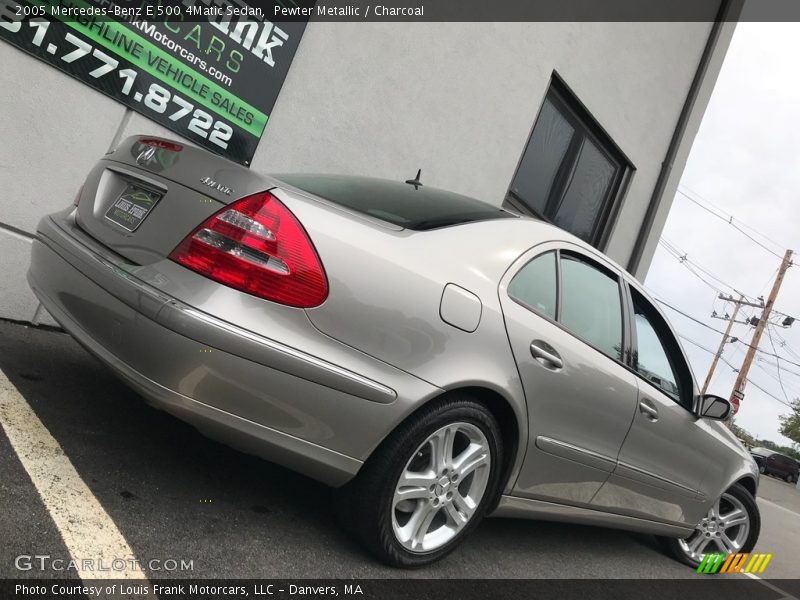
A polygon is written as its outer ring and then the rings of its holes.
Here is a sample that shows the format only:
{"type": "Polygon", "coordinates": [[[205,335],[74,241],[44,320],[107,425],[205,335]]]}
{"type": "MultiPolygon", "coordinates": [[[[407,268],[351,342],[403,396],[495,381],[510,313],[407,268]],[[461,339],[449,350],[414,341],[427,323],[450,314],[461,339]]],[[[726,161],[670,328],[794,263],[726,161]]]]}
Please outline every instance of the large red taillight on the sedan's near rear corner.
{"type": "Polygon", "coordinates": [[[311,240],[269,192],[229,204],[169,257],[214,281],[289,306],[319,306],[328,296],[325,271],[311,240]]]}

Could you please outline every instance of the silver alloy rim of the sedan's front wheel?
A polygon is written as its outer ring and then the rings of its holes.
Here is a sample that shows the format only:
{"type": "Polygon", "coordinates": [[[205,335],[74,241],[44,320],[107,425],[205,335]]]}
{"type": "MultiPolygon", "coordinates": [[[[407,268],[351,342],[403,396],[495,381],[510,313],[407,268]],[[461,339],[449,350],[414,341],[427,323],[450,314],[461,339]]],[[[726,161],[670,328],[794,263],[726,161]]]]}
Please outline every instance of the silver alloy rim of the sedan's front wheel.
{"type": "Polygon", "coordinates": [[[693,562],[699,563],[704,554],[741,551],[750,533],[750,515],[741,500],[729,493],[722,494],[698,523],[694,533],[679,541],[681,550],[693,562]]]}

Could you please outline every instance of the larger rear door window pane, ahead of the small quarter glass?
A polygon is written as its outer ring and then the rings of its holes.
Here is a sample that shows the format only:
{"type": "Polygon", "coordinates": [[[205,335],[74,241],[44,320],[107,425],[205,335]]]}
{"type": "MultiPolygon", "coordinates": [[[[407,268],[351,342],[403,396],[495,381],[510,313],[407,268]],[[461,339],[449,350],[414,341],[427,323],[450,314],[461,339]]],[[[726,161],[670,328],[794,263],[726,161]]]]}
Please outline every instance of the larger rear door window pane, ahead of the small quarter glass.
{"type": "Polygon", "coordinates": [[[583,341],[622,360],[619,282],[594,265],[561,254],[561,323],[583,341]]]}

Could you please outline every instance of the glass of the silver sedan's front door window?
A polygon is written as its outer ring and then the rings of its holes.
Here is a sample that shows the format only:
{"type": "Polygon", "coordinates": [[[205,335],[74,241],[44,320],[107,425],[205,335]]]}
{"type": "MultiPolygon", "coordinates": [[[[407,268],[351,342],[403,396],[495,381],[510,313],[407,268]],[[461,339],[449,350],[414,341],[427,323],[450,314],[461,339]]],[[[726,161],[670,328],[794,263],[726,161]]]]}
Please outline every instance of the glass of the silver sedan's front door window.
{"type": "Polygon", "coordinates": [[[660,323],[656,313],[634,294],[634,328],[636,351],[633,368],[644,379],[659,388],[676,402],[680,401],[680,378],[675,365],[677,358],[670,358],[665,324],[660,323]],[[659,333],[661,331],[661,333],[659,333]]]}

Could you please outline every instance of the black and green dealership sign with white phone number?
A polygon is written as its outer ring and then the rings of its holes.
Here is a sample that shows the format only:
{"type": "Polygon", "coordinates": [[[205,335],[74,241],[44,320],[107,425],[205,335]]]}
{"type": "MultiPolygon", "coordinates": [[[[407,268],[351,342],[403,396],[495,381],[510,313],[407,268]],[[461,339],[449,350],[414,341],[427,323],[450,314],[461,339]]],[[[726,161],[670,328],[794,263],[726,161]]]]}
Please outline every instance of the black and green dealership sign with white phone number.
{"type": "Polygon", "coordinates": [[[274,23],[263,6],[270,2],[259,4],[0,0],[0,38],[249,164],[306,26],[274,23]]]}

